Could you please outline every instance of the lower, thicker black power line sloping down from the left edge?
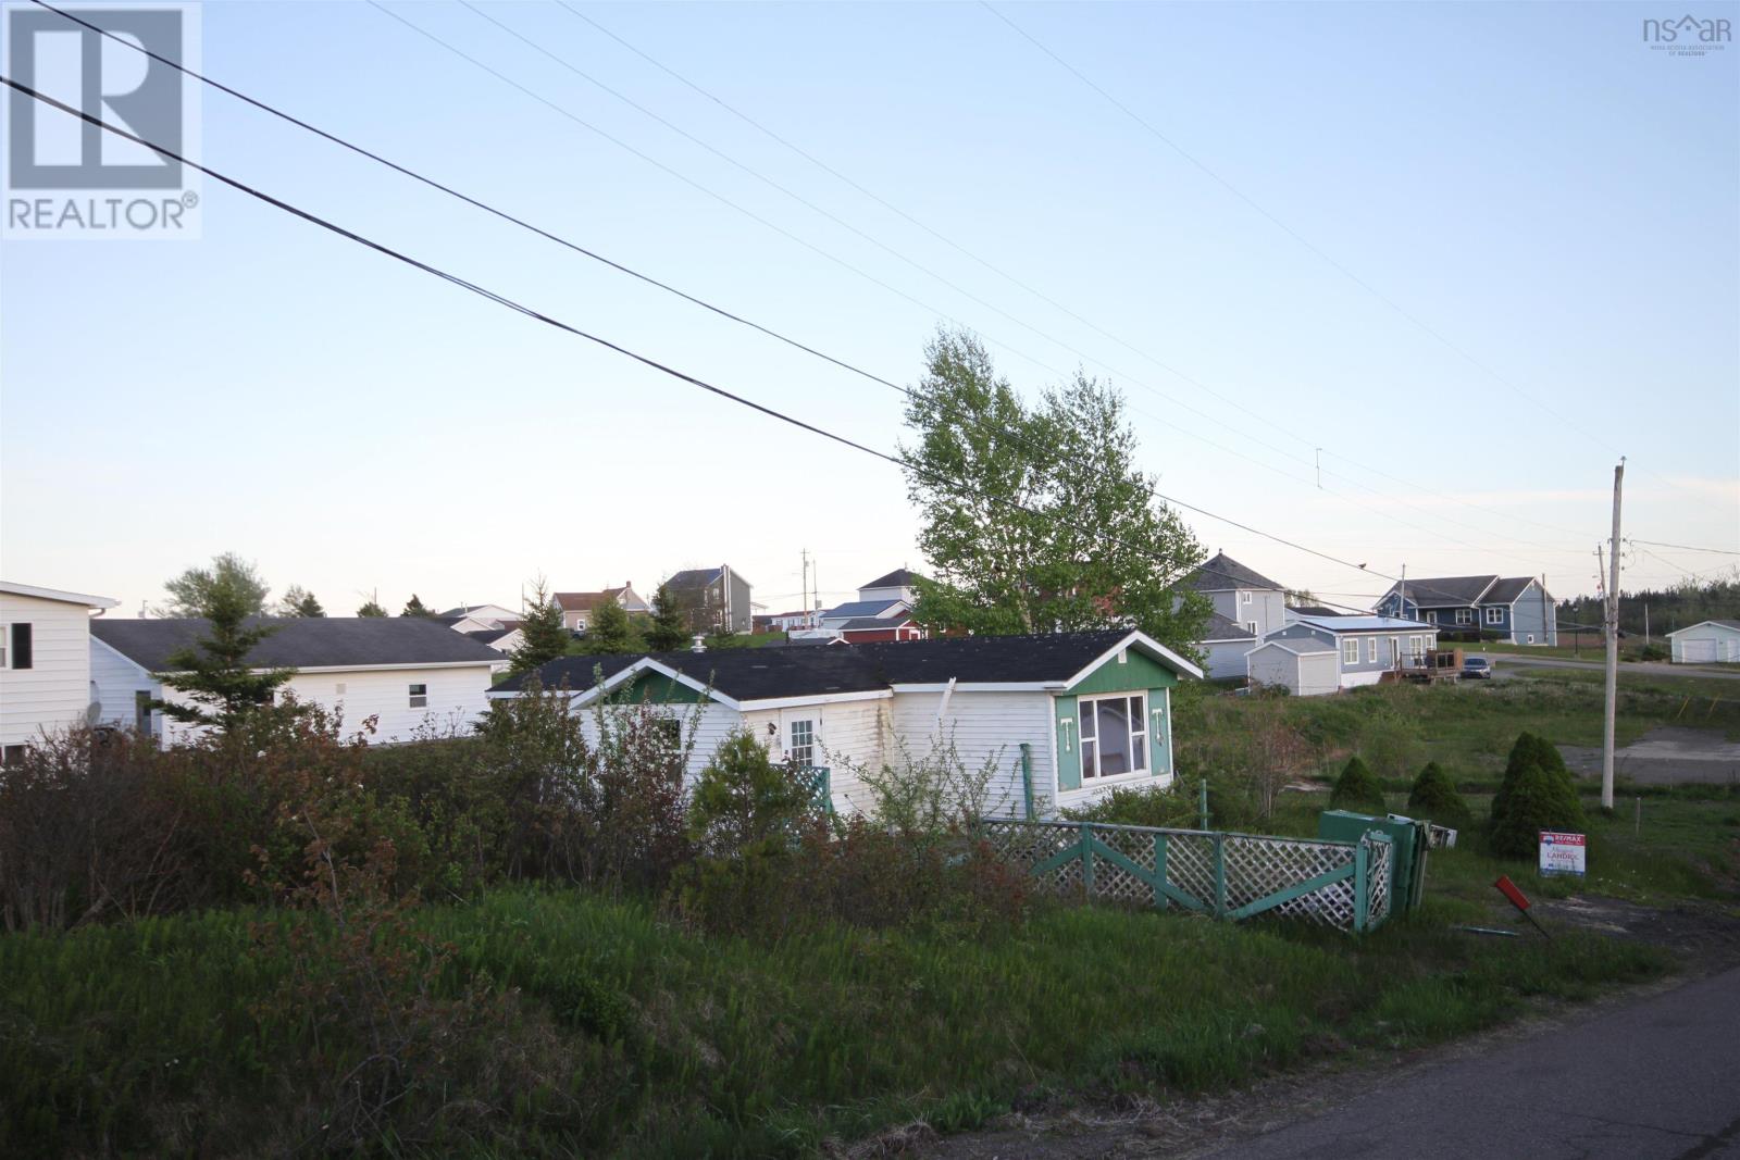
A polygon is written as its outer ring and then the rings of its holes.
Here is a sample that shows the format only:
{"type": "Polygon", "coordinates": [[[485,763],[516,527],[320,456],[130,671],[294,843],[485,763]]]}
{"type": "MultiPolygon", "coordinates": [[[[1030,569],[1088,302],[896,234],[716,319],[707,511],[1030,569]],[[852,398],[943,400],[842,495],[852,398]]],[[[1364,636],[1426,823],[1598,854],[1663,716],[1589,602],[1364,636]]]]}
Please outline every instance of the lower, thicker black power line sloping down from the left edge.
{"type": "MultiPolygon", "coordinates": [[[[430,277],[440,278],[442,282],[447,282],[449,285],[454,285],[454,287],[458,287],[461,290],[468,290],[470,294],[484,297],[484,299],[487,299],[487,301],[491,301],[491,303],[494,303],[498,306],[503,306],[505,310],[512,310],[512,311],[515,311],[519,315],[532,318],[534,322],[541,322],[541,323],[545,323],[548,327],[553,327],[553,329],[562,330],[566,334],[571,334],[574,337],[581,337],[581,339],[585,339],[588,343],[593,343],[597,346],[602,346],[602,348],[606,348],[606,350],[609,350],[612,353],[623,355],[625,358],[632,358],[633,362],[639,362],[639,363],[642,363],[642,365],[646,365],[646,367],[649,367],[652,370],[658,370],[658,372],[666,374],[666,376],[670,376],[673,379],[679,379],[680,383],[687,383],[689,386],[694,386],[698,390],[703,390],[703,391],[708,391],[712,395],[717,395],[719,398],[726,398],[726,400],[734,402],[734,403],[738,403],[741,407],[748,407],[750,410],[764,414],[764,416],[767,416],[771,419],[778,419],[780,423],[786,423],[786,424],[795,426],[799,430],[809,431],[811,435],[816,435],[820,438],[835,442],[835,443],[839,443],[842,447],[849,447],[853,450],[863,452],[863,454],[872,456],[875,459],[882,459],[884,463],[891,463],[891,464],[894,464],[898,468],[903,468],[903,470],[908,468],[908,464],[905,464],[900,457],[891,456],[889,452],[877,450],[877,449],[868,447],[865,443],[860,443],[860,442],[856,442],[853,438],[847,438],[846,435],[839,435],[839,433],[830,431],[830,430],[826,430],[823,426],[809,423],[807,419],[800,419],[800,417],[786,414],[786,412],[783,412],[783,410],[780,410],[776,407],[769,407],[767,403],[755,402],[755,400],[752,400],[752,398],[748,398],[745,395],[740,395],[736,391],[731,391],[731,390],[726,390],[726,388],[717,386],[713,383],[708,383],[706,379],[701,379],[698,376],[693,376],[693,374],[687,374],[687,372],[679,370],[675,367],[670,367],[670,365],[666,365],[666,363],[663,363],[663,362],[659,362],[656,358],[651,358],[651,357],[642,355],[639,351],[628,350],[626,346],[619,346],[618,343],[612,343],[612,341],[609,341],[606,337],[600,337],[600,336],[592,334],[588,330],[581,330],[579,327],[574,327],[574,325],[571,325],[567,322],[562,322],[560,318],[555,318],[555,317],[546,315],[546,313],[543,313],[539,310],[534,310],[534,308],[531,308],[531,306],[527,306],[524,303],[519,303],[519,301],[515,301],[515,299],[512,299],[512,297],[508,297],[505,294],[499,294],[499,292],[491,290],[491,289],[487,289],[484,285],[470,282],[470,280],[466,280],[466,278],[463,278],[463,277],[459,277],[456,273],[442,270],[440,266],[433,266],[433,264],[425,263],[425,261],[421,261],[418,257],[404,254],[404,252],[400,252],[400,250],[397,250],[397,249],[393,249],[393,247],[390,247],[390,245],[386,245],[383,242],[376,242],[376,240],[372,240],[369,237],[364,237],[364,235],[360,235],[360,233],[357,233],[353,230],[339,226],[338,223],[332,223],[332,221],[329,221],[325,217],[320,217],[318,214],[313,214],[311,210],[304,210],[304,209],[301,209],[298,205],[292,205],[292,203],[289,203],[289,202],[285,202],[282,198],[277,198],[277,197],[273,197],[273,195],[270,195],[270,193],[266,193],[263,190],[256,190],[254,186],[251,186],[251,184],[247,184],[247,183],[244,183],[244,181],[240,181],[237,177],[231,177],[231,176],[228,176],[224,172],[219,172],[219,170],[216,170],[211,165],[205,165],[202,162],[195,162],[195,160],[191,160],[188,157],[183,157],[183,155],[176,153],[174,150],[160,146],[160,144],[157,144],[157,143],[153,143],[153,141],[150,141],[146,137],[141,137],[141,136],[130,132],[130,130],[125,130],[125,129],[120,129],[117,125],[111,125],[111,123],[101,120],[99,117],[94,117],[92,113],[87,113],[84,110],[77,110],[77,108],[73,108],[70,104],[64,104],[64,103],[61,103],[61,101],[57,101],[57,99],[50,97],[50,96],[37,92],[30,85],[24,85],[24,83],[10,78],[10,77],[0,75],[0,83],[5,83],[10,89],[14,89],[17,92],[23,92],[24,96],[33,97],[33,99],[37,99],[37,101],[40,101],[40,103],[44,103],[44,104],[47,104],[50,108],[61,110],[63,113],[68,113],[71,117],[77,117],[78,120],[82,120],[82,122],[85,122],[89,125],[94,125],[94,127],[97,127],[97,129],[101,129],[104,132],[110,132],[113,136],[117,136],[117,137],[122,137],[124,141],[132,141],[134,144],[148,148],[153,153],[158,153],[160,157],[164,157],[167,160],[179,162],[179,163],[183,163],[183,165],[186,165],[190,169],[195,169],[195,170],[205,174],[207,177],[211,177],[211,179],[214,179],[214,181],[218,181],[221,184],[226,184],[231,190],[237,190],[238,193],[245,193],[247,197],[256,198],[256,200],[259,200],[259,202],[263,202],[266,205],[271,205],[273,209],[278,209],[278,210],[282,210],[285,214],[291,214],[292,217],[299,217],[301,221],[306,221],[311,226],[318,226],[318,228],[322,228],[322,230],[325,230],[325,231],[329,231],[332,235],[338,235],[338,237],[341,237],[341,238],[345,238],[348,242],[355,242],[357,245],[362,245],[362,247],[365,247],[369,250],[374,250],[376,254],[381,254],[383,257],[392,257],[392,259],[395,259],[398,263],[404,263],[405,266],[411,266],[412,270],[418,270],[418,271],[426,273],[430,277]]],[[[914,470],[917,470],[917,468],[914,468],[914,470]]],[[[920,471],[920,475],[924,475],[922,470],[917,470],[917,471],[920,471]]],[[[957,487],[957,489],[960,489],[960,490],[964,490],[967,494],[974,494],[974,496],[978,496],[981,499],[990,499],[992,503],[1002,503],[1002,504],[1011,506],[1011,508],[1014,508],[1018,511],[1023,511],[1027,515],[1035,515],[1035,517],[1042,517],[1042,518],[1058,518],[1053,513],[1035,511],[1035,510],[1027,508],[1025,504],[1020,504],[1016,501],[1007,501],[1007,499],[1000,499],[1000,497],[995,497],[995,496],[988,496],[987,492],[973,487],[967,482],[952,480],[952,478],[947,478],[947,477],[936,477],[936,473],[929,473],[929,475],[933,475],[934,478],[940,478],[943,483],[957,487]]],[[[1218,520],[1221,523],[1228,523],[1228,525],[1237,527],[1241,530],[1251,532],[1253,536],[1262,536],[1263,539],[1270,539],[1270,541],[1274,541],[1277,544],[1293,548],[1296,551],[1303,551],[1307,555],[1317,557],[1321,560],[1328,560],[1331,563],[1338,563],[1342,567],[1348,567],[1348,569],[1355,569],[1355,570],[1361,570],[1361,572],[1368,572],[1368,569],[1364,569],[1362,565],[1357,565],[1357,563],[1354,563],[1350,560],[1342,560],[1338,557],[1333,557],[1333,555],[1324,553],[1324,551],[1317,551],[1315,548],[1307,548],[1305,544],[1289,541],[1289,539],[1275,536],[1272,532],[1263,532],[1262,529],[1251,527],[1249,523],[1244,523],[1241,520],[1234,520],[1234,518],[1225,517],[1225,515],[1218,515],[1218,513],[1209,511],[1206,508],[1201,508],[1197,504],[1190,504],[1190,503],[1185,503],[1181,499],[1176,499],[1176,497],[1171,497],[1171,496],[1166,496],[1166,494],[1161,494],[1161,492],[1154,492],[1154,496],[1159,497],[1159,499],[1162,499],[1164,503],[1173,504],[1173,506],[1178,506],[1178,508],[1183,508],[1183,510],[1188,510],[1188,511],[1195,511],[1197,515],[1202,515],[1206,518],[1218,520]]],[[[1159,558],[1157,553],[1154,553],[1154,550],[1148,548],[1148,546],[1131,544],[1131,543],[1117,541],[1117,539],[1114,539],[1112,543],[1119,543],[1121,546],[1129,548],[1133,551],[1140,551],[1143,555],[1159,558]]],[[[1192,567],[1190,570],[1194,572],[1195,567],[1192,567]]],[[[1378,576],[1380,579],[1392,579],[1392,577],[1389,577],[1389,576],[1385,576],[1382,572],[1369,572],[1369,574],[1371,576],[1378,576]]],[[[1176,583],[1176,581],[1173,581],[1173,583],[1176,583]]]]}

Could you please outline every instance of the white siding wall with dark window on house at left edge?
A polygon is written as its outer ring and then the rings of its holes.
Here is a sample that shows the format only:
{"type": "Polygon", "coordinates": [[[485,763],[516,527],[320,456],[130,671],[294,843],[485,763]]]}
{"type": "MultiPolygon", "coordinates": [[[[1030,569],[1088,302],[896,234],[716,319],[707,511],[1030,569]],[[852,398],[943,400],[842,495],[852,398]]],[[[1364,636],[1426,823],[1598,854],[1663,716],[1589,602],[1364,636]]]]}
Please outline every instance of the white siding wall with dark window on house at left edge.
{"type": "Polygon", "coordinates": [[[80,603],[0,593],[0,631],[31,626],[31,668],[0,670],[0,744],[82,725],[90,704],[90,610],[80,603]]]}

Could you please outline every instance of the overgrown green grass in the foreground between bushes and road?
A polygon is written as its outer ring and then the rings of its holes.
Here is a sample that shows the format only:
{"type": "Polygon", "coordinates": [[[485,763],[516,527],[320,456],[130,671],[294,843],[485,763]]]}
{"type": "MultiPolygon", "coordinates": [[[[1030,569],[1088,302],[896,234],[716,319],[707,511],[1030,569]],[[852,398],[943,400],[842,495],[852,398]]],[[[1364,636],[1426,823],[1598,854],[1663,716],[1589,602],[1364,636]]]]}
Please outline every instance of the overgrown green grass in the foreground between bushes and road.
{"type": "MultiPolygon", "coordinates": [[[[435,1132],[383,1146],[807,1155],[914,1118],[971,1127],[1053,1096],[1164,1097],[1348,1045],[1429,1043],[1529,997],[1583,998],[1665,965],[1596,937],[1448,930],[1465,908],[1434,899],[1362,939],[1049,908],[992,937],[821,927],[773,944],[576,890],[421,908],[416,927],[452,948],[433,995],[485,983],[512,1003],[503,1050],[548,1043],[566,1066],[532,1090],[461,1075],[411,1092],[494,1101],[487,1144],[435,1132]]],[[[343,1075],[364,1045],[331,1024],[315,1042],[306,1014],[271,1002],[292,967],[261,953],[258,922],[331,934],[310,915],[228,911],[0,939],[0,1153],[299,1143],[320,1110],[280,1077],[311,1061],[343,1075]]]]}

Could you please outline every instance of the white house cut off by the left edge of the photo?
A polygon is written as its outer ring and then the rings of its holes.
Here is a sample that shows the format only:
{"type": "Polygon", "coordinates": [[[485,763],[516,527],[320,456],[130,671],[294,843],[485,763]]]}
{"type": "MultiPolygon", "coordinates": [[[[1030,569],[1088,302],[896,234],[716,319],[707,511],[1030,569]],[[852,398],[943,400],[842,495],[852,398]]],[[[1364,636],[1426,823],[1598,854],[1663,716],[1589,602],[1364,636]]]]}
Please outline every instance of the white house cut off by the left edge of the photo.
{"type": "Polygon", "coordinates": [[[0,581],[0,760],[89,720],[90,610],[118,600],[0,581]]]}

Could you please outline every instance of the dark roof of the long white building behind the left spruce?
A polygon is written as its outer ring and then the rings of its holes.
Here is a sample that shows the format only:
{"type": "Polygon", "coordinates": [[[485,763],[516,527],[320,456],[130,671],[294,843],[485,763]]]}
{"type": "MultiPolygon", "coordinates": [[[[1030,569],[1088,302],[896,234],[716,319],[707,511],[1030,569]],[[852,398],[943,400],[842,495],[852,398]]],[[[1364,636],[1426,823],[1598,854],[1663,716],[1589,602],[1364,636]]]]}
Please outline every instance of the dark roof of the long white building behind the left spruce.
{"type": "MultiPolygon", "coordinates": [[[[252,619],[258,624],[259,619],[252,619]]],[[[251,654],[259,668],[360,668],[365,664],[499,663],[501,654],[421,616],[273,617],[251,654]]],[[[146,671],[169,671],[169,656],[211,631],[198,617],[124,621],[97,617],[90,635],[146,671]]]]}

